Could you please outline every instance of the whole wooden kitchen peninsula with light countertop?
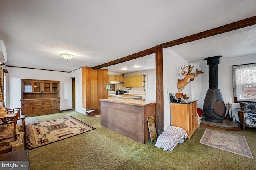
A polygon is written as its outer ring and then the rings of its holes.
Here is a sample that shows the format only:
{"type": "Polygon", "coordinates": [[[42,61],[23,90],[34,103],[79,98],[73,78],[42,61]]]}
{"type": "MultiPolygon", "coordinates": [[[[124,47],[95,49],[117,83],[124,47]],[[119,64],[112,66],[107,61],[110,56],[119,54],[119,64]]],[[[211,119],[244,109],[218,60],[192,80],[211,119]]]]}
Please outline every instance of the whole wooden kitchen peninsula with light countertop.
{"type": "Polygon", "coordinates": [[[147,117],[156,120],[156,102],[133,99],[100,99],[100,125],[145,144],[150,140],[147,117]]]}

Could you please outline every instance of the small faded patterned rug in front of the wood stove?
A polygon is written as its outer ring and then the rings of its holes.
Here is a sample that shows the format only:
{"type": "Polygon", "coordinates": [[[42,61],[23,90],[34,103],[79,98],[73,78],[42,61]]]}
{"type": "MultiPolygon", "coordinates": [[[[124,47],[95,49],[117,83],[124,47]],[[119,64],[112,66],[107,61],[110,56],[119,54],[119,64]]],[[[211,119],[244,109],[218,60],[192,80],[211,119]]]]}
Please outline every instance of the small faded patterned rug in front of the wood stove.
{"type": "Polygon", "coordinates": [[[207,128],[199,143],[253,159],[252,152],[244,136],[207,128]]]}

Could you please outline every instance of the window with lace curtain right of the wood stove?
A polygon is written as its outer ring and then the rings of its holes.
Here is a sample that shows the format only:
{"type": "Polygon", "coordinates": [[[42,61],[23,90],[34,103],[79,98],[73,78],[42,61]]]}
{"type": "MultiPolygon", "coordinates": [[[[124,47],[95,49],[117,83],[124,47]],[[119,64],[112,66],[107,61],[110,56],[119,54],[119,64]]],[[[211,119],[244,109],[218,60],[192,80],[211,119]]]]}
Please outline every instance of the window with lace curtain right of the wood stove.
{"type": "Polygon", "coordinates": [[[256,102],[256,63],[233,65],[234,102],[256,102]]]}

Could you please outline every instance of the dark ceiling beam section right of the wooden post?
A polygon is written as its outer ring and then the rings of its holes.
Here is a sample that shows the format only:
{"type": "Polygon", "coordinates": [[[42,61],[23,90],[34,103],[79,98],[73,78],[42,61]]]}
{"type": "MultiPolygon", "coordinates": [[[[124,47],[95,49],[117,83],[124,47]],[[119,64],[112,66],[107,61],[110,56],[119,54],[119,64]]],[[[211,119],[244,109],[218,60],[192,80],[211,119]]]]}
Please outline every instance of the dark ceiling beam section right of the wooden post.
{"type": "Polygon", "coordinates": [[[200,32],[197,34],[193,34],[190,36],[186,36],[177,40],[173,40],[171,42],[167,42],[167,43],[163,43],[162,47],[163,48],[168,48],[168,47],[172,47],[175,45],[180,45],[182,43],[187,43],[187,42],[192,42],[195,40],[199,40],[202,38],[206,38],[206,37],[210,37],[210,36],[215,36],[217,34],[222,34],[224,32],[229,32],[229,31],[233,31],[233,30],[237,30],[240,28],[244,28],[247,26],[252,26],[256,24],[256,16],[250,17],[250,18],[246,18],[244,20],[240,20],[237,22],[232,22],[230,24],[226,24],[224,26],[220,26],[217,28],[213,28],[211,30],[207,30],[204,32],[200,32]]]}

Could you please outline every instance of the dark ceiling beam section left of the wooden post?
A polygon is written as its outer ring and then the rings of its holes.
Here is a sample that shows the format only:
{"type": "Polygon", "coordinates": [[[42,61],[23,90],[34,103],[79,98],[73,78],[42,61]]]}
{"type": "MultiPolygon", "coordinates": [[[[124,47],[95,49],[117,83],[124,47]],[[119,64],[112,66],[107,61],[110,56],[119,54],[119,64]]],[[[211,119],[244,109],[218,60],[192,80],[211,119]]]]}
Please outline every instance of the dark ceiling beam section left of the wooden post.
{"type": "Polygon", "coordinates": [[[144,51],[140,51],[138,53],[135,53],[135,54],[132,54],[132,55],[128,55],[126,57],[123,57],[123,58],[120,58],[120,59],[116,59],[114,61],[110,61],[108,63],[92,67],[92,69],[100,69],[100,68],[103,68],[103,67],[108,67],[110,65],[115,65],[115,64],[123,63],[123,62],[126,62],[126,61],[130,61],[132,59],[136,59],[136,58],[144,57],[146,55],[153,54],[155,52],[156,52],[156,47],[152,47],[150,49],[146,49],[144,51]]]}

